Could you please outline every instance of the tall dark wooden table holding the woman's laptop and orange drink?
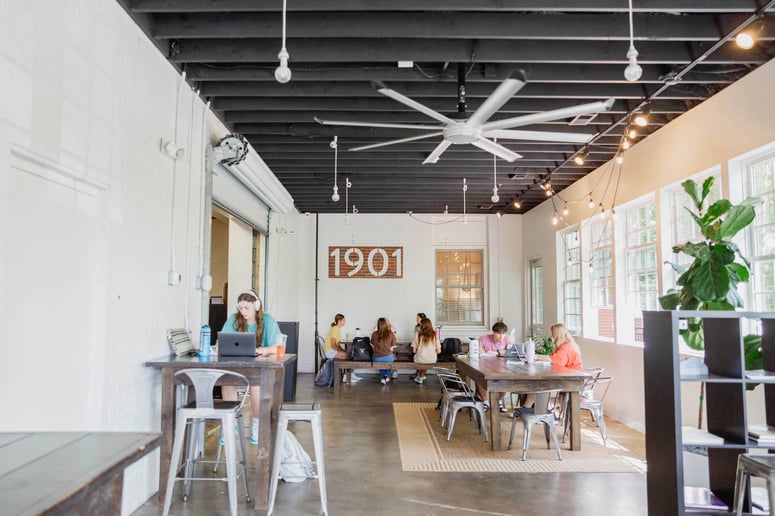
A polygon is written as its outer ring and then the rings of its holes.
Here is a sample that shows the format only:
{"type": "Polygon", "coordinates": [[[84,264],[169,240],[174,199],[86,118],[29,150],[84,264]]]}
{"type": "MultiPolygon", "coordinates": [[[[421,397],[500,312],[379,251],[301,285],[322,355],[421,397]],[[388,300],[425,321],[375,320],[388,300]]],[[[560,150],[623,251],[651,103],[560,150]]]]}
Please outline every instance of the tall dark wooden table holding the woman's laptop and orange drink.
{"type": "MultiPolygon", "coordinates": [[[[167,490],[172,441],[175,435],[175,372],[189,367],[226,369],[248,377],[251,386],[261,387],[259,405],[259,436],[256,446],[256,473],[252,496],[256,512],[265,514],[269,502],[269,477],[272,471],[275,427],[278,412],[283,402],[285,365],[296,360],[296,355],[286,353],[278,360],[275,355],[267,357],[178,357],[170,355],[146,362],[145,365],[161,369],[161,464],[159,467],[159,505],[164,504],[167,490]]],[[[226,383],[226,380],[224,380],[226,383]]],[[[257,403],[258,400],[250,400],[257,403]]]]}

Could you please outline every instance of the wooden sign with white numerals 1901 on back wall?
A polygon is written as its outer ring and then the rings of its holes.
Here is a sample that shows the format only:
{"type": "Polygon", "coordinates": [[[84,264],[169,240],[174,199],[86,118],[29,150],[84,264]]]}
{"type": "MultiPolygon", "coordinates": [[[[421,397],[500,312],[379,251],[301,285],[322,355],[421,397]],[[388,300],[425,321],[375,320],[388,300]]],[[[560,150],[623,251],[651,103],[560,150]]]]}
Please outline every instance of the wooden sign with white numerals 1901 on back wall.
{"type": "Polygon", "coordinates": [[[403,278],[403,247],[328,247],[329,278],[403,278]]]}

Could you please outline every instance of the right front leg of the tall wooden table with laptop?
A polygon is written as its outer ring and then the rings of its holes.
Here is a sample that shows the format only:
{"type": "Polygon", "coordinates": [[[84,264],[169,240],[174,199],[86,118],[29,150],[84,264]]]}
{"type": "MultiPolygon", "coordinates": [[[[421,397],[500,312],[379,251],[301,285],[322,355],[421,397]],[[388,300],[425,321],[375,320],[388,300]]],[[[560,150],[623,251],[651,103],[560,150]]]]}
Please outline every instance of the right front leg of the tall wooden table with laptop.
{"type": "Polygon", "coordinates": [[[259,406],[259,440],[256,446],[256,479],[254,499],[256,514],[266,514],[269,508],[269,484],[272,474],[272,452],[277,438],[276,428],[283,403],[285,368],[260,370],[261,405],[259,406]]]}

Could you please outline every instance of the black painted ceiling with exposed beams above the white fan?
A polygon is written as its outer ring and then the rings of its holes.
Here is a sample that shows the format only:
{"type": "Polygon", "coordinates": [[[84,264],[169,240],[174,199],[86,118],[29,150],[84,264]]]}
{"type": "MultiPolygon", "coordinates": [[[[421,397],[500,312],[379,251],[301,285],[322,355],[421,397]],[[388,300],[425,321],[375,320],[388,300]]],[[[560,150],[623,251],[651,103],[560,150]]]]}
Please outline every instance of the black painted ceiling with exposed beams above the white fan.
{"type": "Polygon", "coordinates": [[[279,84],[282,0],[117,1],[226,125],[250,141],[301,212],[344,212],[349,178],[350,209],[360,213],[460,213],[465,178],[468,213],[523,213],[546,199],[540,185],[547,178],[562,198],[563,188],[615,157],[633,112],[650,109],[637,143],[775,55],[775,0],[634,0],[643,67],[637,82],[623,75],[627,0],[288,0],[293,77],[279,84]],[[747,25],[761,29],[760,39],[741,50],[727,39],[747,25]],[[413,66],[399,68],[398,61],[413,66]],[[441,137],[352,152],[419,132],[313,120],[434,123],[381,95],[372,81],[454,117],[459,69],[469,114],[503,79],[524,74],[527,85],[491,120],[615,102],[586,125],[563,119],[520,127],[596,134],[582,166],[572,160],[579,144],[499,141],[523,157],[497,160],[497,203],[488,152],[454,145],[437,163],[422,165],[441,137]]]}

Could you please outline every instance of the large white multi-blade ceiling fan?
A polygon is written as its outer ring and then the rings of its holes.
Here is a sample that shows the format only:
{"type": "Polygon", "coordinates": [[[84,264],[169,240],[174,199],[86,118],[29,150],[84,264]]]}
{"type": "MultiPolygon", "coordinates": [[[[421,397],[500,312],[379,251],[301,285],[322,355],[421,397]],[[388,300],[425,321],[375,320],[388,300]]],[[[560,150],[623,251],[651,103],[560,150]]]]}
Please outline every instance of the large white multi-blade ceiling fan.
{"type": "MultiPolygon", "coordinates": [[[[551,131],[527,131],[527,130],[515,130],[515,127],[522,127],[530,124],[536,124],[541,122],[548,122],[552,120],[560,120],[563,118],[576,117],[579,115],[586,115],[592,113],[599,113],[601,111],[607,111],[611,109],[614,103],[614,99],[608,99],[605,101],[590,102],[588,104],[581,104],[579,106],[553,109],[551,111],[544,111],[543,113],[534,113],[530,115],[516,116],[512,118],[505,118],[502,120],[494,120],[488,122],[490,117],[494,115],[508,100],[521,90],[526,82],[523,78],[518,78],[518,74],[512,74],[511,77],[504,80],[492,94],[482,103],[481,106],[468,118],[455,120],[446,115],[439,113],[419,102],[410,99],[409,97],[402,95],[401,93],[388,88],[381,82],[373,82],[372,84],[378,92],[390,97],[393,100],[409,106],[412,109],[416,109],[420,113],[423,113],[434,120],[441,122],[444,125],[424,125],[424,124],[394,124],[394,123],[381,123],[381,122],[348,122],[344,120],[322,120],[315,117],[315,121],[322,125],[338,125],[348,127],[383,127],[388,129],[413,129],[418,131],[430,131],[418,136],[410,136],[408,138],[400,138],[398,140],[390,140],[382,143],[375,143],[371,145],[363,145],[361,147],[353,147],[351,151],[361,151],[368,149],[376,149],[378,147],[385,147],[388,145],[395,145],[397,143],[406,143],[416,140],[423,140],[425,138],[433,138],[436,136],[442,136],[441,143],[433,149],[423,165],[427,163],[436,163],[439,157],[444,153],[450,145],[467,144],[470,143],[482,150],[491,152],[499,158],[503,158],[506,161],[514,161],[517,158],[521,158],[516,152],[507,149],[503,145],[500,145],[494,141],[499,138],[501,140],[532,140],[532,141],[545,141],[545,142],[568,142],[584,144],[592,139],[593,134],[579,134],[579,133],[564,133],[564,132],[551,132],[551,131]]],[[[460,84],[459,80],[459,84],[460,84]]],[[[458,96],[465,95],[465,87],[462,89],[459,87],[458,96]]],[[[460,104],[459,104],[460,105],[460,104]]],[[[464,101],[462,102],[464,106],[464,101]]]]}

